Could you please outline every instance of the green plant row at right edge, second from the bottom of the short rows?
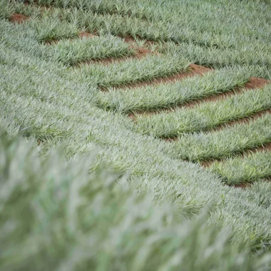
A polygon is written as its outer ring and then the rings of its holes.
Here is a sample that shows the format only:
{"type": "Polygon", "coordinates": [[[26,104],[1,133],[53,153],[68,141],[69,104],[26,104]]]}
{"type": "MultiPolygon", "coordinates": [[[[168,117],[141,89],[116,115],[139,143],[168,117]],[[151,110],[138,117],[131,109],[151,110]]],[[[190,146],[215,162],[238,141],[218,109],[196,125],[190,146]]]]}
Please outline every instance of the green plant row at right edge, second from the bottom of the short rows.
{"type": "Polygon", "coordinates": [[[245,124],[235,124],[210,133],[188,133],[178,137],[173,143],[174,155],[190,161],[209,160],[242,153],[271,142],[271,115],[265,113],[260,118],[245,124]]]}

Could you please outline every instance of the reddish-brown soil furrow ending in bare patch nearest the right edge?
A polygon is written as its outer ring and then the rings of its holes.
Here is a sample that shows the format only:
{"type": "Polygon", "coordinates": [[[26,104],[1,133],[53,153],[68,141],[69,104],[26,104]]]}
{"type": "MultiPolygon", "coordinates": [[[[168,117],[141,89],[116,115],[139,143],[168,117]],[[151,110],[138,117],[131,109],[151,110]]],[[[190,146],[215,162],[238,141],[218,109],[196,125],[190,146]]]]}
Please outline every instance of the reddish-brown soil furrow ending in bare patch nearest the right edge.
{"type": "MultiPolygon", "coordinates": [[[[204,67],[205,68],[205,67],[204,67]]],[[[200,103],[207,103],[207,102],[213,102],[213,101],[220,101],[225,98],[228,98],[230,96],[236,95],[238,93],[242,93],[245,91],[248,91],[250,89],[257,89],[261,88],[262,86],[267,85],[267,83],[271,83],[271,81],[268,81],[263,78],[256,78],[252,77],[250,78],[250,81],[248,81],[245,86],[242,88],[234,88],[232,91],[227,91],[225,93],[218,93],[214,94],[213,96],[205,97],[205,98],[199,98],[196,101],[190,101],[188,103],[183,103],[180,106],[174,106],[174,107],[168,107],[168,108],[159,108],[156,110],[149,110],[149,111],[135,111],[134,113],[129,113],[128,116],[133,119],[133,121],[136,121],[136,114],[138,115],[153,115],[153,114],[159,114],[161,112],[172,112],[176,111],[179,108],[193,108],[194,106],[200,104],[200,103]]]]}

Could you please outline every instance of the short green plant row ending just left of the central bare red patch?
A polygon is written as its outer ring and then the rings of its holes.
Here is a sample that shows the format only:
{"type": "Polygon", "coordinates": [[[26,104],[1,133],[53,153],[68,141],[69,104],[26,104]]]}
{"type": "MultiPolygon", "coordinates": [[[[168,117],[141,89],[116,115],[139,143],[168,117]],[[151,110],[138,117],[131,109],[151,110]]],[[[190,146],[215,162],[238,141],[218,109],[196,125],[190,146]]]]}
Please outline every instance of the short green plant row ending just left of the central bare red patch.
{"type": "Polygon", "coordinates": [[[98,86],[109,88],[122,86],[140,81],[150,81],[161,76],[185,71],[190,61],[186,58],[175,56],[146,56],[140,59],[127,59],[112,65],[82,66],[75,72],[82,80],[91,78],[98,86]]]}

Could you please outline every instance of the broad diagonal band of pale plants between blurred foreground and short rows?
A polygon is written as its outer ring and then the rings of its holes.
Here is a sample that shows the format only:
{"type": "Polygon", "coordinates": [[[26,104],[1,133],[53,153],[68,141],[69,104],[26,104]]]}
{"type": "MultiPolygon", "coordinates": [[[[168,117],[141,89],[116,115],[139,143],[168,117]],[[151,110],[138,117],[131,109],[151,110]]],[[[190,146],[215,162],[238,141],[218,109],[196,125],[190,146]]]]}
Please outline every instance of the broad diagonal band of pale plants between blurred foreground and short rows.
{"type": "Polygon", "coordinates": [[[255,236],[255,248],[268,243],[270,185],[259,182],[243,191],[227,188],[199,165],[166,155],[173,152],[172,145],[134,133],[133,123],[125,116],[96,108],[96,89],[87,88],[71,70],[29,57],[2,42],[0,56],[1,124],[9,134],[39,138],[39,148],[45,153],[48,146],[64,144],[70,159],[98,150],[93,168],[106,163],[119,172],[130,170],[136,190],[153,190],[157,201],[174,199],[185,215],[195,215],[213,200],[210,220],[219,218],[221,226],[232,227],[236,232],[232,240],[244,245],[255,236]],[[246,225],[250,227],[244,230],[246,225]]]}

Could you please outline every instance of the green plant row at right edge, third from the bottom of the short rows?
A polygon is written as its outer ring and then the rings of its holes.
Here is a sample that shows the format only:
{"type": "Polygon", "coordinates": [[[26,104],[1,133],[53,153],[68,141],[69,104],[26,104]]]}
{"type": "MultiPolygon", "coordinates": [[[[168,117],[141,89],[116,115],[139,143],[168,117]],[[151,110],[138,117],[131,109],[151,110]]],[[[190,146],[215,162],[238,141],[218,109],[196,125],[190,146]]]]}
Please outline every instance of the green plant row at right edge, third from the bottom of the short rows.
{"type": "Polygon", "coordinates": [[[237,93],[223,100],[200,103],[193,108],[176,108],[151,116],[137,115],[140,133],[157,137],[178,136],[180,133],[208,130],[238,118],[271,108],[271,86],[257,91],[237,93]]]}

